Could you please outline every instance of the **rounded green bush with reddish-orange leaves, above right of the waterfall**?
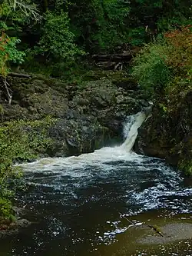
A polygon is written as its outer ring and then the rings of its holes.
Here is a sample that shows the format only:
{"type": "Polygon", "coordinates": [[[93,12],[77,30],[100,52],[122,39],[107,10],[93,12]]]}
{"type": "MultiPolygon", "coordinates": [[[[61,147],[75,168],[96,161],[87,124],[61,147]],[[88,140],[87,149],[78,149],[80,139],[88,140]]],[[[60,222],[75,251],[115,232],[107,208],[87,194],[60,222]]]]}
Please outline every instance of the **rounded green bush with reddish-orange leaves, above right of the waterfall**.
{"type": "Polygon", "coordinates": [[[137,55],[133,75],[143,88],[153,93],[171,86],[186,87],[191,83],[191,31],[192,26],[188,25],[166,32],[163,39],[146,45],[137,55]]]}

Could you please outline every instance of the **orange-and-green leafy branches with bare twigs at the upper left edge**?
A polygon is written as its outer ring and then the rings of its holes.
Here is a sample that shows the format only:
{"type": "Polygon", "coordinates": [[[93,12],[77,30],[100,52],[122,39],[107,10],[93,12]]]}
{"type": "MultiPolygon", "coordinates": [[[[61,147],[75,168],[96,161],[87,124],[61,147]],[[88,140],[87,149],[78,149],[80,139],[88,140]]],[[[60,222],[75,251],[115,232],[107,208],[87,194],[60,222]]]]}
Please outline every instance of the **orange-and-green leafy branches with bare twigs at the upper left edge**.
{"type": "MultiPolygon", "coordinates": [[[[31,17],[37,22],[40,20],[41,16],[38,14],[38,9],[35,5],[31,4],[28,0],[25,0],[25,2],[4,0],[0,8],[0,15],[2,16],[2,20],[4,20],[4,22],[0,22],[0,75],[2,84],[8,95],[8,102],[11,104],[12,89],[6,79],[8,71],[10,70],[9,64],[10,62],[24,62],[25,53],[16,48],[16,45],[18,45],[21,40],[13,36],[8,36],[8,32],[15,29],[12,27],[13,21],[22,23],[26,22],[26,20],[31,17]],[[9,24],[9,26],[6,23],[9,24]]],[[[15,25],[15,27],[18,29],[17,25],[15,25]]]]}

